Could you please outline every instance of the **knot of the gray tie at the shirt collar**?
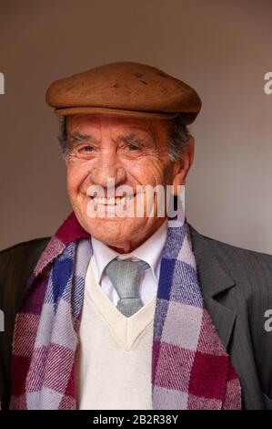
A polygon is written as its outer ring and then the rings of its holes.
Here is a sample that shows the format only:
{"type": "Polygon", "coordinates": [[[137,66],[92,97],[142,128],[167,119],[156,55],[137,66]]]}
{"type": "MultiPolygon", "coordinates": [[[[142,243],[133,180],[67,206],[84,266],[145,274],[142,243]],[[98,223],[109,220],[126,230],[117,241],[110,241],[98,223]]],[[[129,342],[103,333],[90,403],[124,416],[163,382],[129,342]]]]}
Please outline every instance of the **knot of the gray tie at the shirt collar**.
{"type": "Polygon", "coordinates": [[[120,299],[139,298],[138,281],[141,273],[150,266],[143,260],[113,259],[105,268],[120,299]]]}

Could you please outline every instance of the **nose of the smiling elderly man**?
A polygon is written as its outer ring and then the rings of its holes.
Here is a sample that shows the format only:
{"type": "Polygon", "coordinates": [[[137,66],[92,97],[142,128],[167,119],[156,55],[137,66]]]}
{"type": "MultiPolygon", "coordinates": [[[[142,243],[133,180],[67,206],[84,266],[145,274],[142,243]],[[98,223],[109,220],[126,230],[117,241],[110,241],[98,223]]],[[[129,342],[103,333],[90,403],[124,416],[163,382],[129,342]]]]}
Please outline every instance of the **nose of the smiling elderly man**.
{"type": "Polygon", "coordinates": [[[108,185],[108,179],[114,179],[115,186],[118,186],[126,182],[126,170],[118,161],[116,154],[104,152],[90,171],[90,178],[93,183],[105,188],[108,185]]]}

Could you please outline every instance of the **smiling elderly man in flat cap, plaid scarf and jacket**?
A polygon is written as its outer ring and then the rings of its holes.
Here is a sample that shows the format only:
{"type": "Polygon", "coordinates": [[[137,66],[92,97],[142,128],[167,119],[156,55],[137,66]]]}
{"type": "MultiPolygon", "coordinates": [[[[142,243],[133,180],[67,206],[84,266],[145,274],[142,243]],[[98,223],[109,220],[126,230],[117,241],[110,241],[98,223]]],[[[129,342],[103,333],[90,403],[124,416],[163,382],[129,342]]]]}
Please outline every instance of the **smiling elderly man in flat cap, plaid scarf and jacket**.
{"type": "Polygon", "coordinates": [[[196,91],[115,63],[46,100],[73,213],[1,252],[2,408],[271,409],[272,256],[200,235],[178,204],[196,91]]]}

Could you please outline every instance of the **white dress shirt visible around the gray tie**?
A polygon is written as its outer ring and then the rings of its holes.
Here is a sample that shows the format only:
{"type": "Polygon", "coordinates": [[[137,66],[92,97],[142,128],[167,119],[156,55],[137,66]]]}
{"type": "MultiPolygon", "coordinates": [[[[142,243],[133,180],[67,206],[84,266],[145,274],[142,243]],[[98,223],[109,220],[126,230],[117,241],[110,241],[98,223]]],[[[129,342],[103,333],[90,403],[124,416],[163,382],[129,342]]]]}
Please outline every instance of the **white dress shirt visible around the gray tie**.
{"type": "Polygon", "coordinates": [[[142,272],[139,280],[140,298],[145,305],[156,295],[162,251],[166,243],[166,235],[167,219],[156,230],[156,232],[145,241],[145,243],[136,247],[132,252],[126,254],[119,254],[101,241],[92,237],[92,246],[94,250],[94,274],[96,281],[115,306],[119,297],[116,292],[116,288],[104,272],[106,265],[115,257],[118,259],[126,259],[128,257],[135,260],[142,259],[149,264],[150,268],[147,268],[142,272]]]}

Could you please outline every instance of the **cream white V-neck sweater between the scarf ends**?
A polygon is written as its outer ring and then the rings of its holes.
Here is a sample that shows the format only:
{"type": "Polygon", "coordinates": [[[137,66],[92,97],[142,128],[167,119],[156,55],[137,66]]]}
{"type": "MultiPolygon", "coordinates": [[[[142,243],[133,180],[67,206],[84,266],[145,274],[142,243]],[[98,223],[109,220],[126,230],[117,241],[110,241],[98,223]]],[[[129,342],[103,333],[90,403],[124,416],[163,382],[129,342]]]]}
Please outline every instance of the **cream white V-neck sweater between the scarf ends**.
{"type": "Polygon", "coordinates": [[[92,258],[76,352],[77,408],[151,410],[151,360],[156,296],[130,318],[96,282],[92,258]]]}

